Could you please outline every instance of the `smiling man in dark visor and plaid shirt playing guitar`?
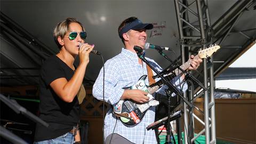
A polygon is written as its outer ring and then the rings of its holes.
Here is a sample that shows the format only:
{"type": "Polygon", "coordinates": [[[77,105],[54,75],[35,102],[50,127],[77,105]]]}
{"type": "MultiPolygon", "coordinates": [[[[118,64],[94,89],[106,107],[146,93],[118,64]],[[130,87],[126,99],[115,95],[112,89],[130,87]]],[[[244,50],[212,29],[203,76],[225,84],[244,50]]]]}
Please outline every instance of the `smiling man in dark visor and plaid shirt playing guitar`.
{"type": "MultiPolygon", "coordinates": [[[[138,103],[149,100],[148,93],[142,90],[124,90],[123,87],[134,85],[142,75],[148,75],[147,65],[138,58],[133,47],[145,47],[147,29],[152,29],[151,23],[142,23],[138,18],[131,17],[124,20],[118,27],[119,37],[124,46],[122,52],[105,63],[105,94],[104,100],[115,106],[121,99],[130,99],[138,103]]],[[[191,56],[193,59],[194,56],[191,56]]],[[[154,60],[146,58],[150,65],[158,71],[162,68],[154,60]]],[[[193,60],[189,69],[196,69],[201,59],[193,60]]],[[[155,75],[155,72],[153,71],[155,75]]],[[[182,76],[183,77],[183,76],[182,76]]],[[[176,78],[179,80],[179,78],[176,78]]],[[[156,79],[157,80],[157,79],[156,79]]],[[[149,85],[148,77],[146,84],[149,85]]],[[[186,87],[186,86],[185,86],[186,87]]],[[[164,92],[164,90],[160,90],[164,92]]],[[[159,91],[159,92],[160,92],[159,91]]],[[[93,95],[103,100],[103,69],[93,85],[93,95]]],[[[150,107],[140,123],[126,126],[113,114],[110,109],[105,117],[104,138],[105,143],[157,143],[155,131],[146,130],[146,127],[155,120],[155,107],[150,107]]]]}

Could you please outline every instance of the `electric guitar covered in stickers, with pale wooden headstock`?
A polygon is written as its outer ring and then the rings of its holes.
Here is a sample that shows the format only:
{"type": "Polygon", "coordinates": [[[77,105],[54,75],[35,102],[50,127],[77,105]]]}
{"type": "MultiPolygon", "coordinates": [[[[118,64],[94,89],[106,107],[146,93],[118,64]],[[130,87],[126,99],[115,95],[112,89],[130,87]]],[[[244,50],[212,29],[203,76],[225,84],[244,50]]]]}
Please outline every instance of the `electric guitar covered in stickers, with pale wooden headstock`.
{"type": "MultiPolygon", "coordinates": [[[[214,52],[220,49],[219,45],[214,45],[212,47],[209,47],[207,49],[203,49],[198,52],[198,54],[194,57],[194,59],[204,59],[210,57],[214,52]]],[[[189,59],[187,62],[183,63],[183,65],[180,66],[181,69],[186,70],[190,67],[191,60],[189,59]]],[[[165,76],[165,79],[168,81],[171,81],[172,78],[175,76],[178,76],[181,74],[182,71],[178,68],[171,71],[170,74],[167,74],[165,76]]],[[[154,100],[154,97],[152,94],[156,92],[158,89],[160,89],[164,82],[162,79],[157,81],[154,84],[146,85],[147,75],[143,75],[139,78],[139,81],[135,83],[131,87],[124,87],[123,89],[138,89],[142,91],[148,92],[149,101],[145,103],[137,103],[130,99],[121,99],[118,101],[118,103],[114,106],[114,114],[118,117],[118,119],[126,126],[133,126],[137,125],[142,121],[143,116],[146,114],[146,111],[152,107],[159,105],[159,101],[154,100]]]]}

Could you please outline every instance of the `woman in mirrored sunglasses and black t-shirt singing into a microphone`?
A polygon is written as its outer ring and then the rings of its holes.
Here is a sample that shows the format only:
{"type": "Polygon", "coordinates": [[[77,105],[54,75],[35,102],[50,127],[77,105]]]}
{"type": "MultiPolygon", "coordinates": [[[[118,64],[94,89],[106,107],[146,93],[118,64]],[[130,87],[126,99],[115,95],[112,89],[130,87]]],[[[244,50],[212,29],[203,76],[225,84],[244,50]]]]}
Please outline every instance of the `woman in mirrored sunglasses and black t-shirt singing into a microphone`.
{"type": "Polygon", "coordinates": [[[79,104],[85,97],[82,85],[89,53],[94,45],[84,43],[86,32],[81,22],[67,18],[54,29],[60,52],[41,68],[39,117],[49,124],[37,124],[35,143],[79,143],[79,104]],[[76,56],[79,65],[74,67],[76,56]],[[82,97],[81,97],[82,96],[82,97]]]}

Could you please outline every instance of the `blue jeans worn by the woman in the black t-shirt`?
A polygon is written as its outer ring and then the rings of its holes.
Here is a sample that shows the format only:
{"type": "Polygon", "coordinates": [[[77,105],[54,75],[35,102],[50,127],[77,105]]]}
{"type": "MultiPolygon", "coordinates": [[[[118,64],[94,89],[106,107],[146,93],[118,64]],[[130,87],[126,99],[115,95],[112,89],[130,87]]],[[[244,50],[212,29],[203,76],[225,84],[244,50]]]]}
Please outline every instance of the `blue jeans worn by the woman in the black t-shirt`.
{"type": "Polygon", "coordinates": [[[53,144],[60,144],[60,143],[63,143],[63,144],[71,144],[71,143],[74,143],[74,135],[72,133],[66,133],[66,134],[63,134],[61,135],[60,137],[58,138],[55,138],[55,139],[50,139],[50,140],[44,140],[44,141],[38,141],[38,142],[34,142],[34,144],[50,144],[50,143],[53,143],[53,144]]]}

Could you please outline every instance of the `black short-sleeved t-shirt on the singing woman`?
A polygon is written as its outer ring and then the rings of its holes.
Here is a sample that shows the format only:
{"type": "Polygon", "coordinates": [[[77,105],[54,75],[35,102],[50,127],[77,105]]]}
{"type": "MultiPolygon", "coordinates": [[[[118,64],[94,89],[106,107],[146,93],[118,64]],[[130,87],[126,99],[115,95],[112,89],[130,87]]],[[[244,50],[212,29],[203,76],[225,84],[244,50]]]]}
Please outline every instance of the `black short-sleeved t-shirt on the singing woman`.
{"type": "Polygon", "coordinates": [[[40,103],[39,111],[43,121],[49,124],[46,128],[37,124],[35,141],[43,141],[60,137],[69,132],[79,121],[79,104],[77,97],[73,102],[61,100],[52,90],[50,83],[55,79],[65,77],[67,81],[74,75],[74,71],[56,55],[47,59],[41,68],[39,81],[40,103]]]}

